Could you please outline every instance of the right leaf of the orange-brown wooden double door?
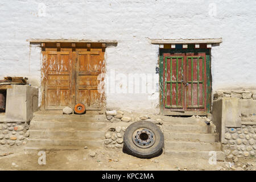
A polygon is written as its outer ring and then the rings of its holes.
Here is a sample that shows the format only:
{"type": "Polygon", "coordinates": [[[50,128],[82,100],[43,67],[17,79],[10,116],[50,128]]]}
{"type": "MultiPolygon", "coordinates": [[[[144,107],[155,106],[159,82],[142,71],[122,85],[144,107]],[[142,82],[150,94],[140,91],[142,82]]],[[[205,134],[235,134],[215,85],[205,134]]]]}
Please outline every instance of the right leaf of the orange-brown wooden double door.
{"type": "Polygon", "coordinates": [[[103,72],[104,57],[101,51],[77,51],[76,103],[82,103],[86,110],[102,109],[102,92],[98,90],[103,72]]]}

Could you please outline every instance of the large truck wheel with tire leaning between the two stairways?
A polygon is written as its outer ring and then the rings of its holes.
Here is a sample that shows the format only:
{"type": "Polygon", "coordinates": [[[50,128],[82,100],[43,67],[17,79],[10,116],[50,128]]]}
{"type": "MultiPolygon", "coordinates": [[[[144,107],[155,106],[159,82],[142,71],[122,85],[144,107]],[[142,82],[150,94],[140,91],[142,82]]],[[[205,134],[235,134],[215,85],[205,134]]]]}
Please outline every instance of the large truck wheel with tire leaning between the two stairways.
{"type": "Polygon", "coordinates": [[[154,123],[138,121],[127,127],[123,146],[129,154],[138,158],[152,158],[162,152],[164,136],[154,123]]]}

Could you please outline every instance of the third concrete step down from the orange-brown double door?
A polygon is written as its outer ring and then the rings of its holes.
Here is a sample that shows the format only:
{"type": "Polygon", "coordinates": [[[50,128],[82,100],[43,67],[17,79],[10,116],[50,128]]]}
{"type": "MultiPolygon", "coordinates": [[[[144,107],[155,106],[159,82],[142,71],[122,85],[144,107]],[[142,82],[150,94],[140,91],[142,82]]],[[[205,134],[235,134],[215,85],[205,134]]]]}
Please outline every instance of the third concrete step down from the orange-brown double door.
{"type": "Polygon", "coordinates": [[[77,137],[85,139],[104,139],[104,131],[80,131],[80,130],[30,130],[30,138],[56,138],[56,137],[77,137]]]}

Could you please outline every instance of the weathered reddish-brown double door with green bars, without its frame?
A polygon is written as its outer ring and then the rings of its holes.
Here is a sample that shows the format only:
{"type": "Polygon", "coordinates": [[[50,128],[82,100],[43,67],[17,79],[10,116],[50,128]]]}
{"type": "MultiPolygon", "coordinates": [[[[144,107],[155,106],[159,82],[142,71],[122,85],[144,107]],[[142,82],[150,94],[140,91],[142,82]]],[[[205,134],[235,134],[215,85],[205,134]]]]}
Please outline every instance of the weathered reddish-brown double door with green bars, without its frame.
{"type": "Polygon", "coordinates": [[[205,114],[206,54],[163,53],[163,110],[165,113],[205,114]]]}

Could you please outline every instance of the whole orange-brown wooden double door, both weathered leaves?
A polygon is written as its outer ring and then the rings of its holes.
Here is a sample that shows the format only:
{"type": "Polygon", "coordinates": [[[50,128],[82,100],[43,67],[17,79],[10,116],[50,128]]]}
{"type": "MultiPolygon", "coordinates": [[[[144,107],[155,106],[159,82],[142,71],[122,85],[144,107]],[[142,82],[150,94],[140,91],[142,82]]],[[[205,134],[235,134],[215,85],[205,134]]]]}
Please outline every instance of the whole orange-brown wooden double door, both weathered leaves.
{"type": "Polygon", "coordinates": [[[98,90],[98,75],[104,73],[101,48],[46,48],[43,51],[42,109],[61,110],[85,104],[86,110],[101,110],[104,92],[98,90]],[[50,50],[50,51],[48,51],[50,50]]]}

